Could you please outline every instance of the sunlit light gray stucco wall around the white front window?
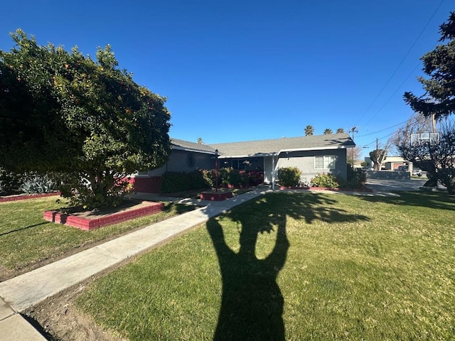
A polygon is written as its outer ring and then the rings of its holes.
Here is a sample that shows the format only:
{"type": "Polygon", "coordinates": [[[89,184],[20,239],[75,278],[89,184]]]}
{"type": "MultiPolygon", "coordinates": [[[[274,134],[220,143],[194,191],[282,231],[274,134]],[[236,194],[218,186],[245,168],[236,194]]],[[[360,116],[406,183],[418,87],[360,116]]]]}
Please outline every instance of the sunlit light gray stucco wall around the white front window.
{"type": "Polygon", "coordinates": [[[277,162],[277,169],[284,167],[297,167],[301,171],[301,182],[309,183],[318,173],[333,173],[346,180],[346,149],[331,149],[324,151],[293,151],[280,153],[277,162]],[[335,156],[336,168],[315,169],[315,156],[335,156]]]}

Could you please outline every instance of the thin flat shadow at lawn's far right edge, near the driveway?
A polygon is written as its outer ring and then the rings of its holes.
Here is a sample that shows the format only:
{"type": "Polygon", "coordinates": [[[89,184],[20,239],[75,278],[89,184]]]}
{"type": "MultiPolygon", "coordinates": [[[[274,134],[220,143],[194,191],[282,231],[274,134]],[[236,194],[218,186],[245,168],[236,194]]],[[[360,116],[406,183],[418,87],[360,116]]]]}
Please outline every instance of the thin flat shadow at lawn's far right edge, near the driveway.
{"type": "Polygon", "coordinates": [[[368,202],[383,202],[392,205],[421,206],[437,210],[455,210],[455,195],[438,192],[400,191],[390,197],[360,196],[368,202]]]}

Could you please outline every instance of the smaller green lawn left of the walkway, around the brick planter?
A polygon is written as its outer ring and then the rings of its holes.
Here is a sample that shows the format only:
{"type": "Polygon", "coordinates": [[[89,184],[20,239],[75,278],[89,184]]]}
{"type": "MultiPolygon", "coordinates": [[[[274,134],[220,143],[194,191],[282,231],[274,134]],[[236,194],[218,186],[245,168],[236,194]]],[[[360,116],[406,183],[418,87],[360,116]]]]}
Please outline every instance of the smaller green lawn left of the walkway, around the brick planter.
{"type": "MultiPolygon", "coordinates": [[[[63,207],[56,197],[0,203],[0,270],[6,272],[33,269],[41,261],[112,238],[132,229],[164,220],[193,207],[167,204],[164,212],[90,232],[43,220],[45,210],[63,207]]],[[[0,271],[0,280],[4,279],[0,271]]],[[[7,275],[6,275],[7,277],[7,275]]]]}

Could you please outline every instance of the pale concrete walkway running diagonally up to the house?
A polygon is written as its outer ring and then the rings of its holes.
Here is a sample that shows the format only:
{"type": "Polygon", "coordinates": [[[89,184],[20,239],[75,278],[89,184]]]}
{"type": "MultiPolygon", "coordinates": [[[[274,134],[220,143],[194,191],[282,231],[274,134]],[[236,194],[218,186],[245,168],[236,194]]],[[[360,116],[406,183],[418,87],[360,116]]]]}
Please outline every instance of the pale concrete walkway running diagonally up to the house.
{"type": "MultiPolygon", "coordinates": [[[[115,264],[166,242],[173,236],[207,222],[211,217],[222,214],[265,192],[257,189],[223,201],[193,202],[205,205],[149,225],[136,232],[97,245],[68,258],[55,261],[21,276],[0,283],[0,338],[2,341],[43,341],[45,338],[21,315],[45,298],[85,281],[90,276],[108,269],[115,264]]],[[[176,198],[173,198],[176,199],[176,198]]]]}

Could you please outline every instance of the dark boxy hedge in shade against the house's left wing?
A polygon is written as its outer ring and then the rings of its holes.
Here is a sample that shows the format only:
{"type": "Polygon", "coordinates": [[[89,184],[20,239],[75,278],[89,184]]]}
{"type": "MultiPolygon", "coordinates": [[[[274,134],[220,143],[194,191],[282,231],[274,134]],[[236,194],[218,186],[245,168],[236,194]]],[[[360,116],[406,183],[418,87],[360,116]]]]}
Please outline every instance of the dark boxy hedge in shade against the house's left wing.
{"type": "Polygon", "coordinates": [[[210,171],[166,172],[161,176],[161,180],[161,193],[178,193],[213,186],[210,171]]]}

